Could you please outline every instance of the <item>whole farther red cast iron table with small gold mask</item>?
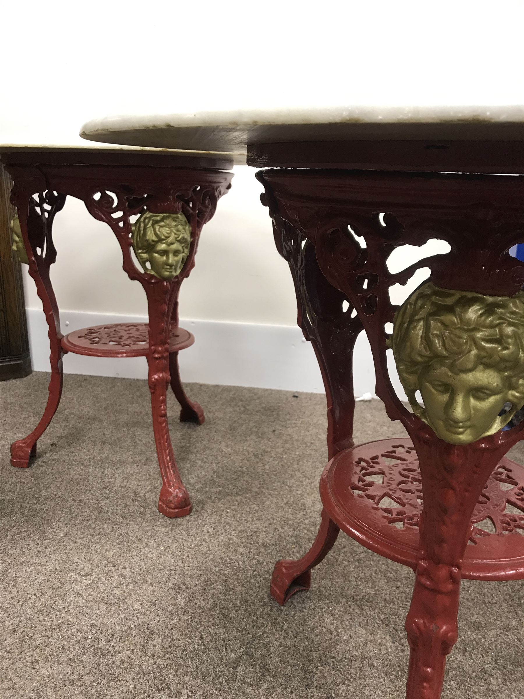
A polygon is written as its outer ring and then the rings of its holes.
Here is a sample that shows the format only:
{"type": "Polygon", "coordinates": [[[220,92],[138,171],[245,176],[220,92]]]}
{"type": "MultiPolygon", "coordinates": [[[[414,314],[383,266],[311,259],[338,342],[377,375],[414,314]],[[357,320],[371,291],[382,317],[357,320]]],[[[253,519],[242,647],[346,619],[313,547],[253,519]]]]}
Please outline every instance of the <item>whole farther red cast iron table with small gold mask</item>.
{"type": "MultiPolygon", "coordinates": [[[[56,412],[62,391],[62,357],[144,356],[154,442],[162,487],[159,512],[184,517],[191,512],[189,494],[177,469],[169,434],[166,391],[180,403],[180,419],[202,424],[203,410],[185,394],[178,352],[194,336],[178,324],[180,284],[195,264],[202,226],[214,215],[218,199],[231,187],[231,154],[168,152],[131,148],[0,146],[0,159],[13,179],[11,222],[13,247],[29,265],[48,322],[51,379],[48,402],[38,425],[11,445],[13,466],[27,468],[36,444],[56,412]],[[54,217],[73,196],[108,225],[122,249],[122,267],[142,284],[148,323],[119,323],[61,332],[50,269],[57,259],[54,217]]],[[[71,231],[74,235],[74,231],[71,231]]],[[[82,274],[81,259],[78,274],[82,274]]],[[[115,271],[117,272],[117,271],[115,271]]],[[[122,495],[124,498],[124,493],[122,495]]]]}

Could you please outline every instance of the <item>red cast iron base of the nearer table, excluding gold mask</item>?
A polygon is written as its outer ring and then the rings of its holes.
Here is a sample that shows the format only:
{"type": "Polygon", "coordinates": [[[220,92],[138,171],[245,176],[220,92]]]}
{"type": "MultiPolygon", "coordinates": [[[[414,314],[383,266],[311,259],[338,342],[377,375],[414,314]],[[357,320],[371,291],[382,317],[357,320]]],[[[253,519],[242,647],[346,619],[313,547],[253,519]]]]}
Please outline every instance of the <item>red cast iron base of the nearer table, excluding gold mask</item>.
{"type": "MultiPolygon", "coordinates": [[[[333,147],[324,144],[323,152],[333,147]]],[[[285,148],[280,144],[279,152],[285,148]]],[[[282,605],[308,589],[311,569],[340,529],[409,565],[415,582],[405,624],[406,696],[438,699],[446,656],[458,638],[462,577],[524,578],[524,469],[505,458],[524,435],[524,421],[453,445],[408,410],[388,372],[398,309],[390,289],[429,268],[435,287],[514,296],[523,287],[524,266],[508,251],[524,241],[524,182],[289,165],[257,178],[277,249],[293,277],[298,324],[323,375],[330,461],[321,477],[316,540],[298,561],[275,565],[271,593],[282,605]],[[390,270],[395,249],[432,238],[449,243],[449,252],[390,270]],[[376,394],[408,437],[355,447],[353,351],[362,331],[371,347],[376,394]]]]}

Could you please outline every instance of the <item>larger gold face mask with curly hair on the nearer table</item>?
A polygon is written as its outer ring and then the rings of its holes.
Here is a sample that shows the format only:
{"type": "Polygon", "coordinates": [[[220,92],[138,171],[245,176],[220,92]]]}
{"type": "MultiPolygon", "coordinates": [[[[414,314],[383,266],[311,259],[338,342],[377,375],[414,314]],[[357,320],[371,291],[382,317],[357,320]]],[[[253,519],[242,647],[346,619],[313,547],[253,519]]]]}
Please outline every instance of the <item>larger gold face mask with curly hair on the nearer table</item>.
{"type": "Polygon", "coordinates": [[[395,314],[391,347],[415,415],[449,444],[497,432],[524,404],[523,291],[483,296],[426,282],[395,314]]]}

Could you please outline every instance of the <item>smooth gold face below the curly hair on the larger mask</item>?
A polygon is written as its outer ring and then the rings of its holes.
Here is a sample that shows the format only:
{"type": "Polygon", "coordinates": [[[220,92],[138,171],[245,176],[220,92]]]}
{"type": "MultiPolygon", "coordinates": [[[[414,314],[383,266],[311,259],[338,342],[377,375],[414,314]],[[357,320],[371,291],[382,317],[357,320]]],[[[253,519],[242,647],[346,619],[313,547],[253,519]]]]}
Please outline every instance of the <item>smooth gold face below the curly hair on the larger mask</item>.
{"type": "Polygon", "coordinates": [[[481,364],[458,374],[429,366],[420,377],[420,391],[433,431],[445,442],[460,445],[492,433],[509,393],[502,375],[481,364]]]}

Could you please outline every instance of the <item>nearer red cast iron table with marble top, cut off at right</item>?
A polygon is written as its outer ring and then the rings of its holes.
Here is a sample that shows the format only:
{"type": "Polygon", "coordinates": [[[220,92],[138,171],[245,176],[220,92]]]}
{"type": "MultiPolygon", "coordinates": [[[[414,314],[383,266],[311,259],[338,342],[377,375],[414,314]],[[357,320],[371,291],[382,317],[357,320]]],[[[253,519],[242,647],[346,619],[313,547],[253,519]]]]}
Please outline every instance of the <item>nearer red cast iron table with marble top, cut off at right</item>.
{"type": "Polygon", "coordinates": [[[342,529],[415,571],[408,699],[437,699],[457,640],[460,579],[524,577],[524,108],[333,108],[120,117],[82,136],[247,152],[319,360],[328,462],[319,533],[275,565],[279,604],[342,529]],[[500,175],[503,173],[503,175],[500,175]],[[398,273],[395,248],[447,241],[398,273]],[[389,289],[430,269],[401,306],[389,289]],[[370,341],[376,392],[409,439],[354,445],[352,353],[370,341]],[[393,353],[411,409],[387,369],[393,353]],[[384,500],[384,498],[387,498],[384,500]],[[384,502],[383,502],[384,500],[384,502]],[[476,526],[490,521],[492,533],[476,526]]]}

